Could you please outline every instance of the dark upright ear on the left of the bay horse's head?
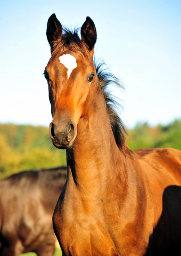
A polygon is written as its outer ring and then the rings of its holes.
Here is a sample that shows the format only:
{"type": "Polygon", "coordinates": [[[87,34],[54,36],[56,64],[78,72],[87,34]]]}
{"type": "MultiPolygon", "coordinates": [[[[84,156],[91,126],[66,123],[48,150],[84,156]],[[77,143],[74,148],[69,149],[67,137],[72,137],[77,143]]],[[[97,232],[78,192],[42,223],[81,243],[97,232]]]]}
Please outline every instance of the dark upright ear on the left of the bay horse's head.
{"type": "Polygon", "coordinates": [[[62,25],[53,13],[47,22],[46,37],[51,47],[51,53],[62,39],[62,25]]]}

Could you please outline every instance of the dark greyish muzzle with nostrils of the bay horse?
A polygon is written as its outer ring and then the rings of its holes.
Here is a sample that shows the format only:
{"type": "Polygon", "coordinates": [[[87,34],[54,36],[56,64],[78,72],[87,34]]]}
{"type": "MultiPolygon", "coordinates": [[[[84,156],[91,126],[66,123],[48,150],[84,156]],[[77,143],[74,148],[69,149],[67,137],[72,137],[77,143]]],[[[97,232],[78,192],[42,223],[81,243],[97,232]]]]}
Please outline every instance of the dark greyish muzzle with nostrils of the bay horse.
{"type": "Polygon", "coordinates": [[[77,125],[72,122],[50,123],[50,138],[59,149],[70,148],[77,135],[77,125]]]}

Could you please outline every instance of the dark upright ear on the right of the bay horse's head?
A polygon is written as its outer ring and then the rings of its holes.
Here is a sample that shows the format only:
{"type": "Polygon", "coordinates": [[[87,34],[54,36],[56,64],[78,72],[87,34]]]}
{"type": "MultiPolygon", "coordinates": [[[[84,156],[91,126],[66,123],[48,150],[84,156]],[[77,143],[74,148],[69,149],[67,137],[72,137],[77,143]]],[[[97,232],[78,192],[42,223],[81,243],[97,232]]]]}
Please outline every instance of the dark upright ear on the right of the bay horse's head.
{"type": "Polygon", "coordinates": [[[97,39],[97,33],[94,22],[89,17],[86,18],[86,21],[81,27],[81,39],[84,41],[89,51],[92,51],[97,39]]]}

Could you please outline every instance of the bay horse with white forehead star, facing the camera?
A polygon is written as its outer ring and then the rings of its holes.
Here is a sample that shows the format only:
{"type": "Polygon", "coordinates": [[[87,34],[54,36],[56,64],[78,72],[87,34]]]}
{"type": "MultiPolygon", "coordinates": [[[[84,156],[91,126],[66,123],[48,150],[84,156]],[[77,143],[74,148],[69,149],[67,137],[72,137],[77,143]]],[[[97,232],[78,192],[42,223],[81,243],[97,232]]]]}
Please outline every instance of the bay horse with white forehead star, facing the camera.
{"type": "Polygon", "coordinates": [[[46,35],[50,137],[67,154],[67,181],[53,214],[63,255],[181,255],[181,151],[127,147],[106,90],[118,81],[94,65],[91,18],[80,38],[52,14],[46,35]]]}

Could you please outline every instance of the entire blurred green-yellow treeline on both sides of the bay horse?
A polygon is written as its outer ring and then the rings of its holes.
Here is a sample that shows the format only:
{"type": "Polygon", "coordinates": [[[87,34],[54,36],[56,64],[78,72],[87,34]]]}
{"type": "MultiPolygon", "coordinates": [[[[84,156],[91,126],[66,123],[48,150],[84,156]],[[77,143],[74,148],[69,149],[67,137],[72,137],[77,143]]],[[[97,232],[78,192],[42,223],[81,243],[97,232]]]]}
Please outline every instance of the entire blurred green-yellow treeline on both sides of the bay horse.
{"type": "MultiPolygon", "coordinates": [[[[158,147],[181,150],[181,120],[157,127],[137,124],[128,134],[132,150],[158,147]]],[[[0,124],[0,179],[23,170],[61,165],[66,165],[65,150],[52,145],[47,127],[0,124]]]]}

